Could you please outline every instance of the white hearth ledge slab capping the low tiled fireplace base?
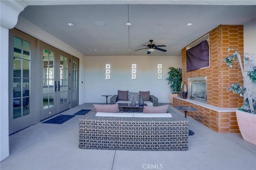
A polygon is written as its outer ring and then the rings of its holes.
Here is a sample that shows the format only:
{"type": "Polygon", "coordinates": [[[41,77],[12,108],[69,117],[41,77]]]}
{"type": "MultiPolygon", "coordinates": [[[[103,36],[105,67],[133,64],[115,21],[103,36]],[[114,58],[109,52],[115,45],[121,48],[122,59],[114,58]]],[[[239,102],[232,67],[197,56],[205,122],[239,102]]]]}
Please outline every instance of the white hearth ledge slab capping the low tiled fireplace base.
{"type": "Polygon", "coordinates": [[[224,111],[236,111],[238,109],[238,107],[216,107],[216,106],[212,106],[210,104],[204,104],[202,102],[197,102],[195,100],[191,100],[191,99],[183,99],[183,98],[180,98],[180,97],[174,97],[174,98],[177,98],[179,100],[184,100],[186,102],[189,102],[189,103],[192,103],[192,104],[196,104],[198,106],[202,106],[202,107],[205,107],[205,108],[208,108],[208,109],[212,109],[212,110],[215,110],[215,111],[218,111],[218,112],[224,112],[224,111]]]}

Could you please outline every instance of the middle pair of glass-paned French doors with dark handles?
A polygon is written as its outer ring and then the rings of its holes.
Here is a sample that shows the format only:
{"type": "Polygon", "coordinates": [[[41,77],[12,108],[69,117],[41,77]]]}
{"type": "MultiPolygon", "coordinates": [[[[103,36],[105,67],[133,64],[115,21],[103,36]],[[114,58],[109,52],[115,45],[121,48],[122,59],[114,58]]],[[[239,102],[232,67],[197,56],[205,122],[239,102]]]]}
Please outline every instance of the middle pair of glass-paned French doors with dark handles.
{"type": "Polygon", "coordinates": [[[70,55],[41,42],[40,59],[42,61],[40,120],[44,120],[70,108],[70,55]]]}

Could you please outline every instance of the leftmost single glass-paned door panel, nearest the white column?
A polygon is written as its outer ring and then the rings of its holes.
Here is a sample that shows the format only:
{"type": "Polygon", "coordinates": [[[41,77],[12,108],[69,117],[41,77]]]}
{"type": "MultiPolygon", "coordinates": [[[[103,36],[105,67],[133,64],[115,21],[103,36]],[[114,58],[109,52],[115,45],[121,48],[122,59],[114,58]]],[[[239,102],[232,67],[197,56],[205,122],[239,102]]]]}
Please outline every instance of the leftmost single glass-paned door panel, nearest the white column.
{"type": "MultiPolygon", "coordinates": [[[[9,134],[36,123],[36,38],[9,31],[9,134]]],[[[7,72],[8,70],[6,70],[7,72]]],[[[1,82],[4,85],[4,82],[1,82]]],[[[7,83],[6,83],[7,85],[7,83]]]]}

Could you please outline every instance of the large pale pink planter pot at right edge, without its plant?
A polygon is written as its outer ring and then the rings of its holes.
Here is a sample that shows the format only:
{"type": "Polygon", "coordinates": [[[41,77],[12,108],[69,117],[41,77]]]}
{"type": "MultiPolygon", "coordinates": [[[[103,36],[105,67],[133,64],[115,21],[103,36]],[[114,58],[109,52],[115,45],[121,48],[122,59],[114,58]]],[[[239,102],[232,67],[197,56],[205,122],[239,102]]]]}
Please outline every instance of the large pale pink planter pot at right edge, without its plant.
{"type": "Polygon", "coordinates": [[[256,114],[236,110],[236,119],[243,139],[256,145],[256,114]]]}

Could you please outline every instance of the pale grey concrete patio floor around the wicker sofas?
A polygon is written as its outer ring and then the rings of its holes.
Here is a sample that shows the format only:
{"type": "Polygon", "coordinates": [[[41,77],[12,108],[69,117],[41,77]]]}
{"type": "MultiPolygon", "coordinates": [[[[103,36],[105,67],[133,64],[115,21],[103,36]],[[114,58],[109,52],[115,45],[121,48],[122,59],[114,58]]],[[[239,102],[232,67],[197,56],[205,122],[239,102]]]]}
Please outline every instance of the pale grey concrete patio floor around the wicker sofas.
{"type": "MultiPolygon", "coordinates": [[[[104,103],[102,103],[104,104],[104,103]]],[[[159,105],[164,105],[161,103],[159,105]]],[[[172,107],[172,106],[170,106],[172,107]]],[[[92,103],[63,112],[93,109],[92,103]]],[[[173,108],[176,110],[175,108],[173,108]]],[[[184,116],[184,113],[176,110],[184,116]]],[[[61,125],[37,123],[10,136],[10,156],[1,170],[255,170],[256,146],[240,133],[216,133],[188,116],[188,150],[136,151],[79,149],[79,118],[61,125]]]]}

